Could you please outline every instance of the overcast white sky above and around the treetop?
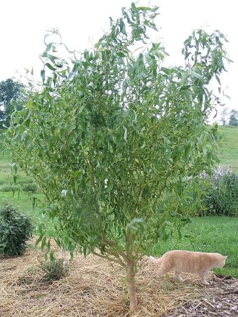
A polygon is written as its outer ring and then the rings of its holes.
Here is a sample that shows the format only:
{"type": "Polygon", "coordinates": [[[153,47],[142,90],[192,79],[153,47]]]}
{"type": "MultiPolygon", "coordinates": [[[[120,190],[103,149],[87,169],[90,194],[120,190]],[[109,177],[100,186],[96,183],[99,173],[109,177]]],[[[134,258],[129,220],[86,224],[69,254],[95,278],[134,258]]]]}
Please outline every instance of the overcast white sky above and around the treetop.
{"type": "MultiPolygon", "coordinates": [[[[63,42],[71,50],[84,50],[96,43],[109,29],[109,16],[116,19],[121,7],[129,7],[130,0],[8,0],[0,1],[0,80],[19,77],[24,67],[34,67],[40,74],[38,55],[45,49],[46,30],[57,27],[63,42]],[[103,31],[104,30],[104,31],[103,31]]],[[[221,77],[222,89],[231,97],[223,99],[229,109],[238,109],[238,7],[236,0],[140,0],[140,5],[157,5],[160,15],[155,37],[162,40],[170,56],[169,65],[183,65],[180,53],[183,41],[192,30],[207,32],[220,30],[230,43],[226,48],[233,64],[221,77]]],[[[215,87],[215,86],[214,86],[215,87]]],[[[214,89],[217,93],[217,89],[214,89]]],[[[218,111],[221,112],[221,106],[218,111]]]]}

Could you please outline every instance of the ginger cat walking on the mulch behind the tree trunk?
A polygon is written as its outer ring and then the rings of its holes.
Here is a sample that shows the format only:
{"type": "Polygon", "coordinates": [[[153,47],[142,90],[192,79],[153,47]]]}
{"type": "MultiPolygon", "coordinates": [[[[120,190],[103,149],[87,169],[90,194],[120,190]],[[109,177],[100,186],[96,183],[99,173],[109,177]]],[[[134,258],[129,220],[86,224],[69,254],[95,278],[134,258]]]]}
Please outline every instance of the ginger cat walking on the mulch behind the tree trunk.
{"type": "Polygon", "coordinates": [[[164,275],[167,272],[175,271],[175,276],[181,281],[181,272],[198,274],[204,285],[209,285],[206,281],[207,273],[214,267],[223,267],[227,257],[219,253],[190,252],[181,250],[172,250],[166,252],[163,257],[155,259],[150,256],[153,264],[161,264],[158,275],[164,275]]]}

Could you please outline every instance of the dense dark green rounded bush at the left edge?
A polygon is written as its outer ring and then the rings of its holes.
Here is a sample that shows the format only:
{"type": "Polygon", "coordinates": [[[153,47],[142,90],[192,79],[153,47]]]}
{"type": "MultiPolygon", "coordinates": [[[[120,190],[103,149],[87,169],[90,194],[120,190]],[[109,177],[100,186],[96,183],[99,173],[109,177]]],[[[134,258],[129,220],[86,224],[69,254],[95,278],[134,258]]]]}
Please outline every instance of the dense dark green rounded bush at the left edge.
{"type": "Polygon", "coordinates": [[[30,218],[7,201],[0,208],[0,254],[20,255],[32,235],[30,218]]]}

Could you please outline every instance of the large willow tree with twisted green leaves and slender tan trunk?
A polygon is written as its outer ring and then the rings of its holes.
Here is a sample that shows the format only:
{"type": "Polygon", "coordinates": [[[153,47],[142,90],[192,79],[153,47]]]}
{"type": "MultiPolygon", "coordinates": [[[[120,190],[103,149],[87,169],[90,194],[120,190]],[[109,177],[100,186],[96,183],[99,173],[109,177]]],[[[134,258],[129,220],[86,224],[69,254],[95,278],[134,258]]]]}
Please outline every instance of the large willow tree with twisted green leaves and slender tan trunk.
{"type": "Polygon", "coordinates": [[[161,195],[182,196],[187,177],[209,173],[217,159],[206,85],[227,58],[220,32],[197,30],[184,42],[185,65],[162,67],[161,43],[147,43],[157,9],[123,8],[94,49],[70,62],[56,53],[61,38],[46,43],[43,89],[5,134],[15,173],[21,166],[38,181],[44,212],[58,219],[59,245],[120,264],[130,309],[141,255],[168,224],[181,226],[179,214],[158,207],[161,195]]]}

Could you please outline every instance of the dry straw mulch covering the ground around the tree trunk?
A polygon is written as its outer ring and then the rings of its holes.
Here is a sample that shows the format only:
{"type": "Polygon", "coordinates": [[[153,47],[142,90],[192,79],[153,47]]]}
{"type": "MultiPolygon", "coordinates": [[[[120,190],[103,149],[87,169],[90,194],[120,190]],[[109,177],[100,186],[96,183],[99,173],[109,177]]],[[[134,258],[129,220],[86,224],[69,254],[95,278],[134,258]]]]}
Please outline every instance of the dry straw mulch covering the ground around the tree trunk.
{"type": "MultiPolygon", "coordinates": [[[[59,258],[68,255],[57,250],[59,258]]],[[[141,261],[137,274],[138,307],[128,312],[126,279],[119,266],[96,256],[75,255],[70,274],[53,283],[43,280],[35,248],[16,258],[0,258],[0,317],[185,317],[237,316],[238,280],[210,275],[204,287],[198,277],[181,283],[174,274],[156,278],[156,265],[141,261]],[[219,315],[219,314],[223,315],[219,315]]]]}

